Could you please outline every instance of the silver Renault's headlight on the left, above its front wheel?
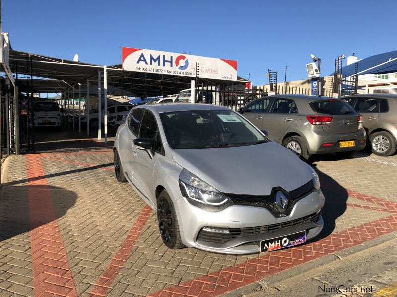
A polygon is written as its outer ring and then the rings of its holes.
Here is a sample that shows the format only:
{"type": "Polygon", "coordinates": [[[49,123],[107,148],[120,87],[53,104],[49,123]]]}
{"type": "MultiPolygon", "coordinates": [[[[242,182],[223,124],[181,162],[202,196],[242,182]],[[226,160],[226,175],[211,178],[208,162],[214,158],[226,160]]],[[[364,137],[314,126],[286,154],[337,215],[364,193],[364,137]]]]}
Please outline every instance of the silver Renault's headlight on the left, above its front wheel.
{"type": "Polygon", "coordinates": [[[186,169],[179,175],[179,185],[185,198],[205,205],[221,206],[229,201],[227,196],[186,169]]]}

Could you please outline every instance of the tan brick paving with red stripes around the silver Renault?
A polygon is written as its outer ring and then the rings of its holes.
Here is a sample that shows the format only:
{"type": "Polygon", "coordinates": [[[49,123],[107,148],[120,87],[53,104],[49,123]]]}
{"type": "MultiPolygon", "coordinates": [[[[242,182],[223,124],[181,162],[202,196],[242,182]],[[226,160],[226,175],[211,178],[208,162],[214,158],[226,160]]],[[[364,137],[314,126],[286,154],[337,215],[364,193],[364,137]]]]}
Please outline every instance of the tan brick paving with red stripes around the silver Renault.
{"type": "Polygon", "coordinates": [[[155,213],[114,178],[110,147],[92,139],[58,146],[66,149],[8,160],[0,297],[216,296],[397,230],[396,155],[321,156],[313,166],[326,226],[313,242],[249,256],[169,250],[155,213]]]}

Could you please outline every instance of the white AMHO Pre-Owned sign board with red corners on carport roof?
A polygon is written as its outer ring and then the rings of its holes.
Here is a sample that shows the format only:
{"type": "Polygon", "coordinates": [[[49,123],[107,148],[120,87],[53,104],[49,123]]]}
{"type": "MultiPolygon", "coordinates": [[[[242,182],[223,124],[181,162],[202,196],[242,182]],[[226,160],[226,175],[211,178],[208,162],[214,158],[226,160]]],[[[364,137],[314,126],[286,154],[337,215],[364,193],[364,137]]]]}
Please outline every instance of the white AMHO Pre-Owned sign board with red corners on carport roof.
{"type": "Polygon", "coordinates": [[[166,51],[122,47],[123,70],[167,75],[237,80],[237,61],[166,51]]]}

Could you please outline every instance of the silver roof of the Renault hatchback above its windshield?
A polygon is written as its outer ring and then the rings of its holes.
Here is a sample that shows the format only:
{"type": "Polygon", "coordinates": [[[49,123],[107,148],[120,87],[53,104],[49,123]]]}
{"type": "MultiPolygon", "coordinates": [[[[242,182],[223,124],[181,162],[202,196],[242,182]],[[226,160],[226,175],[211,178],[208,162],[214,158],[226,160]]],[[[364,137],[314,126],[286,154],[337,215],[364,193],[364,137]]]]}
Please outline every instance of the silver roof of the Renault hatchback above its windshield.
{"type": "MultiPolygon", "coordinates": [[[[162,113],[172,111],[186,111],[186,110],[231,110],[230,108],[202,103],[159,103],[150,105],[140,105],[136,108],[145,108],[151,111],[162,113]]],[[[135,109],[135,108],[134,108],[135,109]]]]}

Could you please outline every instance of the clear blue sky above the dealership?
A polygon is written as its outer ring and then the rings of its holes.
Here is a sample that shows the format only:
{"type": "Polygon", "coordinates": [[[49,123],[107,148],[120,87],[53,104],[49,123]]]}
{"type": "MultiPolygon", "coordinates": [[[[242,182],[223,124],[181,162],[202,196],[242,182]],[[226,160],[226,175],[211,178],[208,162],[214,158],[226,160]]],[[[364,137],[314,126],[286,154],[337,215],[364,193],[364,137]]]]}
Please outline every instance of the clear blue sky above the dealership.
{"type": "Polygon", "coordinates": [[[238,61],[254,85],[307,77],[310,53],[323,75],[334,60],[397,49],[395,0],[166,1],[2,0],[3,31],[13,49],[120,64],[121,47],[238,61]]]}

